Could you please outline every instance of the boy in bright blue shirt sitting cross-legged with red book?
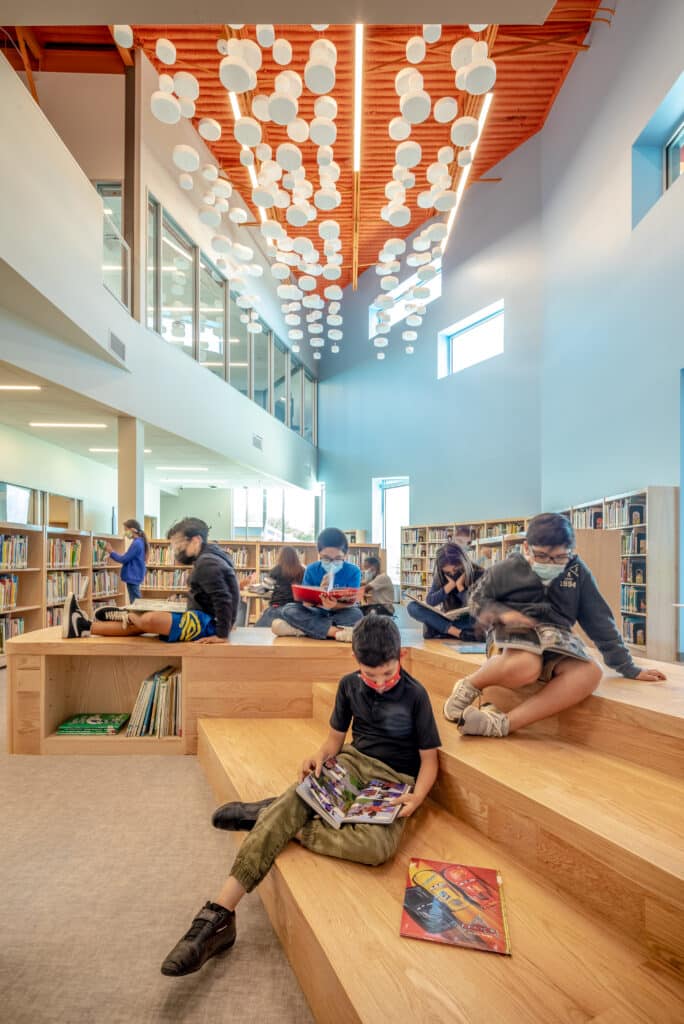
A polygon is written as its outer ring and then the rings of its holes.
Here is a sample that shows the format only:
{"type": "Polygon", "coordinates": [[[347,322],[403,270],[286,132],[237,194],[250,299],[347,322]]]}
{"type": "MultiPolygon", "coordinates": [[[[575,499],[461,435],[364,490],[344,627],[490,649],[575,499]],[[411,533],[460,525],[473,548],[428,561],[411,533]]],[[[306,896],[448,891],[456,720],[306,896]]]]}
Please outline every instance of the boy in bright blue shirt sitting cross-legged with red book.
{"type": "Polygon", "coordinates": [[[351,643],[351,631],[364,613],[357,604],[336,598],[335,591],[359,588],[361,570],[345,560],[349,545],[341,529],[335,526],[324,529],[318,534],[316,547],[318,561],[306,566],[302,586],[324,587],[329,593],[322,594],[319,606],[291,601],[270,628],[279,637],[311,637],[351,643]]]}

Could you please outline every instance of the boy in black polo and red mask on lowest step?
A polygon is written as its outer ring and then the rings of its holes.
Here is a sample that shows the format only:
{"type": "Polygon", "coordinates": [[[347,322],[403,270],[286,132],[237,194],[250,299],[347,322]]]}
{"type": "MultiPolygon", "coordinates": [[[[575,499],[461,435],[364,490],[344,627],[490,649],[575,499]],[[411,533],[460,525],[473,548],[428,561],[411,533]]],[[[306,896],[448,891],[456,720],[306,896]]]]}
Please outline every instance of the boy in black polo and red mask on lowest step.
{"type": "Polygon", "coordinates": [[[364,618],[354,629],[352,651],[358,670],[340,680],[328,736],[304,759],[300,777],[319,775],[324,762],[337,757],[365,785],[374,778],[410,783],[413,792],[397,800],[403,805],[398,817],[389,825],[345,824],[338,830],[314,816],[297,795],[297,782],[275,799],[219,807],[212,819],[216,828],[249,835],[225,885],[168,954],[162,974],[191,974],[233,944],[238,903],[291,840],[322,856],[360,864],[382,864],[396,851],[407,818],[437,777],[439,733],[426,690],[401,668],[399,631],[391,618],[364,618]],[[351,743],[345,745],[349,726],[351,743]]]}

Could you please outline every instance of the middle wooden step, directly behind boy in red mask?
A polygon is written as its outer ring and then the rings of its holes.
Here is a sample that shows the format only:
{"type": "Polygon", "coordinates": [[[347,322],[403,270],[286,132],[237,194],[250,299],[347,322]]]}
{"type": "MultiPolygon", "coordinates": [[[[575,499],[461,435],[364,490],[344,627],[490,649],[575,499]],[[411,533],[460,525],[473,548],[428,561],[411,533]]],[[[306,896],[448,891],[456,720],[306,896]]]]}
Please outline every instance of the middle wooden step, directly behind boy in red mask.
{"type": "MultiPolygon", "coordinates": [[[[336,687],[313,687],[328,722],[336,687]]],[[[653,956],[684,966],[684,785],[671,776],[546,736],[461,736],[433,698],[442,748],[437,803],[653,956]]]]}

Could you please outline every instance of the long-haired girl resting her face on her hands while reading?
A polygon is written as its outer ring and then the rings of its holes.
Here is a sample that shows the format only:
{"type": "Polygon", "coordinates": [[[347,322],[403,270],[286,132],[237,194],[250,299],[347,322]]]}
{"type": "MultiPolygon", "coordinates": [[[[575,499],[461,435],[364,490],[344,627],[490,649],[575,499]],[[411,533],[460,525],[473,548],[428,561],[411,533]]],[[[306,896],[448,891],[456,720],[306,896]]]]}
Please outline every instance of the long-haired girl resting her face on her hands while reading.
{"type": "Polygon", "coordinates": [[[437,549],[432,585],[425,598],[430,607],[418,601],[410,601],[407,605],[411,617],[423,624],[426,640],[436,637],[476,639],[476,624],[472,616],[465,614],[455,622],[441,612],[466,608],[470,591],[483,571],[460,544],[451,541],[437,549]]]}

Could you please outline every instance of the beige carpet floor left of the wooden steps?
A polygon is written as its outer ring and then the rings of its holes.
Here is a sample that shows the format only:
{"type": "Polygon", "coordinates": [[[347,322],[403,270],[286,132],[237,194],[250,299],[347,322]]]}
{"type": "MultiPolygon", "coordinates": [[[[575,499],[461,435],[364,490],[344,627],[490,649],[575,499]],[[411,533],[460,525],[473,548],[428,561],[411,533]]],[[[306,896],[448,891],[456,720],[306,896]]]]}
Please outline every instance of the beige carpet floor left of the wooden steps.
{"type": "Polygon", "coordinates": [[[159,971],[217,892],[232,840],[209,823],[196,758],[9,757],[0,672],[0,1020],[8,1024],[310,1022],[261,906],[238,942],[177,980],[159,971]]]}

